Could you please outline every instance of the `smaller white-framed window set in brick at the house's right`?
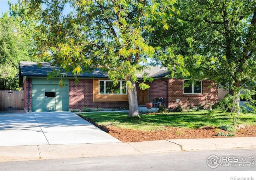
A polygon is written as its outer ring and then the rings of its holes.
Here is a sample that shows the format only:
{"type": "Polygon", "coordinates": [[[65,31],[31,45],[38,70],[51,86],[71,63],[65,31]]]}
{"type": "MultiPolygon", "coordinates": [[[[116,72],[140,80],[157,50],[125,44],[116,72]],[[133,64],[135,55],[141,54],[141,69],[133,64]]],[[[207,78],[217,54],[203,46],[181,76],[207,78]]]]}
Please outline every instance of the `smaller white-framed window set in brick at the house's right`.
{"type": "Polygon", "coordinates": [[[184,94],[202,94],[202,81],[190,83],[184,80],[184,94]]]}

